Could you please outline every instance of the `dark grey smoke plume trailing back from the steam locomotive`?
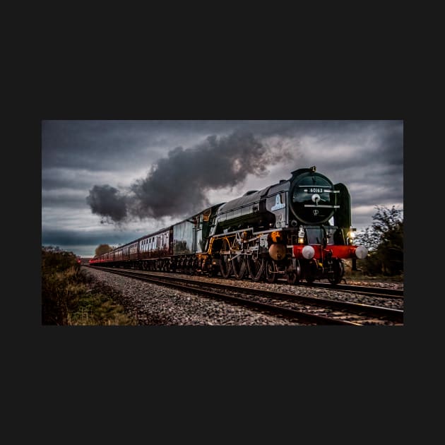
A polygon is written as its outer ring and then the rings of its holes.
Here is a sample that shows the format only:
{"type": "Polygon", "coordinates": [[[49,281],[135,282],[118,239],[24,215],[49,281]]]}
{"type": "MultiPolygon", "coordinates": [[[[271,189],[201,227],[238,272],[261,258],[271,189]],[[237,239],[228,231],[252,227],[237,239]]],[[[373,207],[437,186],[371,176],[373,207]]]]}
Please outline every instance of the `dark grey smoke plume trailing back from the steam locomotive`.
{"type": "Polygon", "coordinates": [[[268,165],[290,158],[292,153],[284,145],[271,148],[251,133],[208,136],[192,148],[170,150],[126,194],[109,185],[95,185],[86,200],[91,211],[102,217],[101,223],[182,217],[215,204],[208,201],[208,190],[242,184],[247,174],[262,177],[268,165]]]}

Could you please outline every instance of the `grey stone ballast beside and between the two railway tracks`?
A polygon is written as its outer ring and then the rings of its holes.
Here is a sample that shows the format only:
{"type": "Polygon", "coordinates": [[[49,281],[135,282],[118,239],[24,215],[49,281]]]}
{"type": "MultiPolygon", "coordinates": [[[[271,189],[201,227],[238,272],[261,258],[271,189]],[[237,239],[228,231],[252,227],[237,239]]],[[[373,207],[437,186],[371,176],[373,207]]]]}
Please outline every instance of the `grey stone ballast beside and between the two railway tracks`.
{"type": "MultiPolygon", "coordinates": [[[[149,326],[298,326],[295,322],[268,316],[259,312],[239,307],[227,302],[182,292],[170,287],[146,283],[134,278],[107,273],[94,268],[83,268],[85,273],[95,281],[95,285],[102,285],[113,290],[113,298],[121,304],[138,325],[149,326]]],[[[158,273],[164,275],[164,273],[158,273]]],[[[165,273],[165,275],[181,274],[165,273]]],[[[208,281],[199,275],[189,276],[194,280],[208,281]]],[[[225,280],[212,278],[214,282],[240,286],[239,280],[225,280]]],[[[348,282],[348,284],[355,284],[348,282]]],[[[357,283],[358,284],[358,283],[357,283]]],[[[364,283],[363,283],[364,284],[364,283]]],[[[369,284],[369,283],[367,283],[369,284]]],[[[376,286],[375,283],[372,285],[376,286]]],[[[394,285],[382,284],[382,287],[394,285]]],[[[350,294],[337,290],[314,289],[304,286],[287,284],[253,283],[242,281],[242,287],[255,287],[264,290],[310,295],[321,298],[337,299],[340,301],[360,302],[362,304],[384,305],[393,309],[403,310],[403,299],[389,299],[382,303],[381,299],[360,294],[350,294]]]]}

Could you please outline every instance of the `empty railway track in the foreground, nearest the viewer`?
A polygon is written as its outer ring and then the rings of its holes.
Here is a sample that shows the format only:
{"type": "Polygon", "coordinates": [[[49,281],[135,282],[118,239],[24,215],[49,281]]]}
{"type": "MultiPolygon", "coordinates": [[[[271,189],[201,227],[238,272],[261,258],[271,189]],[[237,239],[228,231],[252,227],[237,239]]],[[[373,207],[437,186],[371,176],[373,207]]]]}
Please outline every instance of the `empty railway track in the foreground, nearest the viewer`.
{"type": "MultiPolygon", "coordinates": [[[[224,300],[230,304],[240,304],[250,309],[295,321],[296,324],[403,325],[403,310],[399,309],[261,290],[254,287],[240,287],[239,285],[215,283],[214,280],[194,280],[193,278],[159,275],[129,269],[98,268],[97,266],[95,268],[128,278],[145,280],[156,285],[175,287],[183,292],[224,300]]],[[[352,289],[349,291],[352,292],[352,289]]]]}

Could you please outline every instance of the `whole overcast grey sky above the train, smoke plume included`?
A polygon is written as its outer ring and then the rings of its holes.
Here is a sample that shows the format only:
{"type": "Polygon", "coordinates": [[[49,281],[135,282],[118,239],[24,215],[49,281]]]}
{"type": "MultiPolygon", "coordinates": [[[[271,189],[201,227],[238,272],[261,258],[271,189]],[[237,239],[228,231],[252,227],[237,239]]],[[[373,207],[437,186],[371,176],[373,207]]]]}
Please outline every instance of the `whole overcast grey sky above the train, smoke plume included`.
{"type": "Polygon", "coordinates": [[[403,121],[42,121],[42,245],[93,256],[316,165],[352,225],[403,210],[403,121]]]}

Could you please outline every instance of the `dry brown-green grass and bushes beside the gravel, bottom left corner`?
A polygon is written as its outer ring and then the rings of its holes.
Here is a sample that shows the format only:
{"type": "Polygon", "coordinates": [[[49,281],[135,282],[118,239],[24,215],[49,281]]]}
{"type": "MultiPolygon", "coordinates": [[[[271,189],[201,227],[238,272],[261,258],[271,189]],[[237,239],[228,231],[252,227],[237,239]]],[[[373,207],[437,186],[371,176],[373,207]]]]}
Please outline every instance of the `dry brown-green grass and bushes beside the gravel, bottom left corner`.
{"type": "Polygon", "coordinates": [[[136,320],[97,287],[72,252],[42,247],[42,324],[57,326],[131,326],[136,320]]]}

